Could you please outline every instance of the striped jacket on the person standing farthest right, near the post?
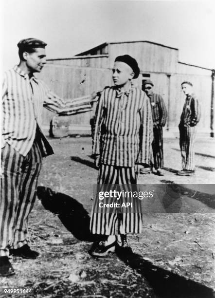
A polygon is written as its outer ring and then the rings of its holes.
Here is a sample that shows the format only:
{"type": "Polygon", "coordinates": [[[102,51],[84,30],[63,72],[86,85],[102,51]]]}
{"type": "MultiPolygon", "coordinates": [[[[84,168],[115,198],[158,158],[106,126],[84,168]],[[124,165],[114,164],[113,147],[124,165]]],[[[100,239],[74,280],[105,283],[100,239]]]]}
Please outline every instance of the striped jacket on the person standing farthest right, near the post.
{"type": "Polygon", "coordinates": [[[180,125],[196,126],[200,120],[200,106],[195,94],[187,95],[183,106],[183,111],[180,116],[180,125]]]}

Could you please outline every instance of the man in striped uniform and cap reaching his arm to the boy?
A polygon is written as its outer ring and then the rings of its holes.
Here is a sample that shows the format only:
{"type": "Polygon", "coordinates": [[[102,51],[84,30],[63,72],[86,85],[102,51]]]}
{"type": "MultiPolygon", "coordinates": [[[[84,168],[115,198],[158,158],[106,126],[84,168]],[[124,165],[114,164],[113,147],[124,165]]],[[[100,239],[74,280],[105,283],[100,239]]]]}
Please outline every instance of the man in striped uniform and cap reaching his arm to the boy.
{"type": "Polygon", "coordinates": [[[46,64],[45,46],[19,41],[20,62],[3,76],[0,198],[0,276],[14,274],[9,253],[36,259],[27,244],[28,216],[35,204],[42,157],[53,149],[41,131],[42,107],[60,115],[91,110],[89,96],[65,102],[34,76],[46,64]]]}

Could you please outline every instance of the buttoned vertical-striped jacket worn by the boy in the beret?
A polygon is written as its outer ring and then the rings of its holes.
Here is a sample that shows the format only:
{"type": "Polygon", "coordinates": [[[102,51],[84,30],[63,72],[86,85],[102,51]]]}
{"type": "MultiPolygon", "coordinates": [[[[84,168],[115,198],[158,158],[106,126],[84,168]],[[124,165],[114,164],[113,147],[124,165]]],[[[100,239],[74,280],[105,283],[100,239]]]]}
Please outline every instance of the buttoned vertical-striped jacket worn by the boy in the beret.
{"type": "Polygon", "coordinates": [[[101,163],[134,167],[149,164],[153,139],[152,115],[148,97],[131,87],[129,94],[118,94],[116,87],[101,94],[95,113],[92,154],[101,163]]]}

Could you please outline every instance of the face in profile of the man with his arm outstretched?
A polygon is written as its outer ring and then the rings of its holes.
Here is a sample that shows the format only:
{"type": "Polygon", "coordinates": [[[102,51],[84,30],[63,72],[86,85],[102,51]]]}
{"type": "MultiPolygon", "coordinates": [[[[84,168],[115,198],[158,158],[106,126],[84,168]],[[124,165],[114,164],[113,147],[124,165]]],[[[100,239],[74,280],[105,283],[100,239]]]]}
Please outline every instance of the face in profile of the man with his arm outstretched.
{"type": "Polygon", "coordinates": [[[34,53],[23,53],[26,66],[31,73],[40,73],[46,64],[46,52],[43,48],[36,48],[34,53]]]}

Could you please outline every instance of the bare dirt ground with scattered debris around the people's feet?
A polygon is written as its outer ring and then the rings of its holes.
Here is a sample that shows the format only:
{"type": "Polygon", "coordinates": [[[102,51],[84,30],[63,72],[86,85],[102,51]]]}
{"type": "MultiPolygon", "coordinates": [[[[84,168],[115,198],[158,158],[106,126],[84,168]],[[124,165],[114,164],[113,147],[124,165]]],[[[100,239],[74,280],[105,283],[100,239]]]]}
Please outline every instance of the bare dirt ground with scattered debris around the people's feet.
{"type": "Polygon", "coordinates": [[[30,244],[41,257],[13,258],[17,275],[0,279],[2,287],[34,293],[4,295],[1,289],[0,297],[213,297],[215,189],[206,185],[215,181],[215,140],[197,140],[195,177],[175,174],[179,140],[164,140],[165,175],[141,175],[139,183],[152,184],[157,193],[167,187],[165,194],[145,201],[142,234],[129,236],[133,254],[103,259],[90,256],[92,240],[85,233],[98,173],[91,139],[50,142],[55,154],[44,160],[38,184],[50,189],[39,188],[29,222],[30,244]]]}

